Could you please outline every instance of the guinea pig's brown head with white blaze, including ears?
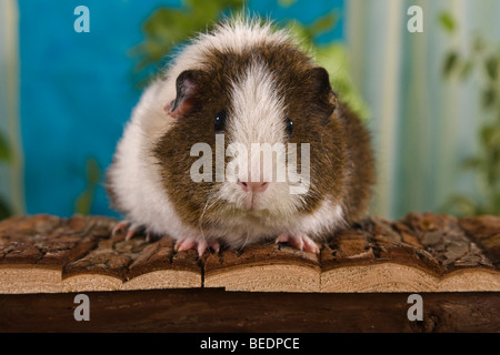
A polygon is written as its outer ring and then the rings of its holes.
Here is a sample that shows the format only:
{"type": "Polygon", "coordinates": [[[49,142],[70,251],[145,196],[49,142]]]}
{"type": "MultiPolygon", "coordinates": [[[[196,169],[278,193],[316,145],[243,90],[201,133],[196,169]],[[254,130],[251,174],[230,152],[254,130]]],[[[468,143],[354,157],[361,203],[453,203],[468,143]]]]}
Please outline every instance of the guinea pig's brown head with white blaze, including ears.
{"type": "Polygon", "coordinates": [[[184,222],[290,217],[340,196],[337,97],[328,72],[294,45],[212,49],[176,78],[176,91],[154,154],[184,222]]]}

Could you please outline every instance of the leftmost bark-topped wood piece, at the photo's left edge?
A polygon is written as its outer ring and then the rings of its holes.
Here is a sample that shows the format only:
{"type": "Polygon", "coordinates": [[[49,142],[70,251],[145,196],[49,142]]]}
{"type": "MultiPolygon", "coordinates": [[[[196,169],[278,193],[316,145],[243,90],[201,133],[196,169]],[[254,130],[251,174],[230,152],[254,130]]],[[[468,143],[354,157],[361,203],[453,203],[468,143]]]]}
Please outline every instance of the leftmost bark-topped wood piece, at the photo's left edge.
{"type": "Polygon", "coordinates": [[[62,292],[62,267],[108,237],[114,221],[39,214],[0,223],[0,293],[62,292]]]}

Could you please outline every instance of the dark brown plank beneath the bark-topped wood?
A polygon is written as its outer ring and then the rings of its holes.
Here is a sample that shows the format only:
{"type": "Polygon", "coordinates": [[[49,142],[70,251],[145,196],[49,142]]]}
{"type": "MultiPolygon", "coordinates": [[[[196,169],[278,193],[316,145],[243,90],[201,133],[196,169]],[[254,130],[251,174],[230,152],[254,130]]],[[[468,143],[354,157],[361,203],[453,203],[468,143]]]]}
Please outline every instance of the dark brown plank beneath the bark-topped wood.
{"type": "Polygon", "coordinates": [[[500,332],[499,293],[422,293],[422,321],[408,320],[408,293],[86,294],[89,322],[74,321],[74,293],[0,295],[0,332],[500,332]]]}

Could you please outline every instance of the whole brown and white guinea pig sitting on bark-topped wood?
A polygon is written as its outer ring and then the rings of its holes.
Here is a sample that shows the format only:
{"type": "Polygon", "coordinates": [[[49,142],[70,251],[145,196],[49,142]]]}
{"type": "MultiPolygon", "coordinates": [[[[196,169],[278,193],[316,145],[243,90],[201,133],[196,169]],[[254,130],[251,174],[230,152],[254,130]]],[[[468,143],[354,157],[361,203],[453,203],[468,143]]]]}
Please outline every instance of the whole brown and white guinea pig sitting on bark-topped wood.
{"type": "Polygon", "coordinates": [[[199,34],[144,91],[108,171],[126,214],[116,230],[170,236],[199,255],[270,240],[318,253],[314,241],[363,216],[373,181],[369,133],[328,72],[284,30],[241,18],[199,34]],[[229,149],[266,143],[297,148],[272,153],[273,169],[287,163],[284,180],[254,178],[260,152],[229,149]]]}

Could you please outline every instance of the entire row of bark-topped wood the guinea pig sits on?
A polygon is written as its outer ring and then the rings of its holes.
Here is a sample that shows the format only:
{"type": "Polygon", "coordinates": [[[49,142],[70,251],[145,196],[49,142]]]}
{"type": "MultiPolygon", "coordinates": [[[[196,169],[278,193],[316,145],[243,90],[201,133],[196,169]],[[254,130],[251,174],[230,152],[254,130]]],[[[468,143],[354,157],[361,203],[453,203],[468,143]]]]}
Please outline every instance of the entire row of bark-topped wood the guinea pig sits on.
{"type": "Polygon", "coordinates": [[[0,293],[222,287],[293,293],[499,292],[500,217],[368,217],[319,255],[263,243],[199,258],[170,239],[111,236],[101,216],[0,222],[0,293]]]}

